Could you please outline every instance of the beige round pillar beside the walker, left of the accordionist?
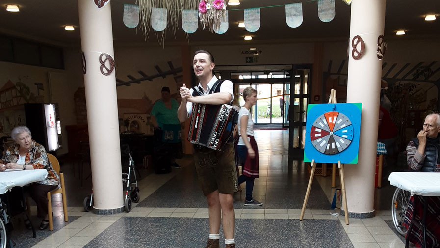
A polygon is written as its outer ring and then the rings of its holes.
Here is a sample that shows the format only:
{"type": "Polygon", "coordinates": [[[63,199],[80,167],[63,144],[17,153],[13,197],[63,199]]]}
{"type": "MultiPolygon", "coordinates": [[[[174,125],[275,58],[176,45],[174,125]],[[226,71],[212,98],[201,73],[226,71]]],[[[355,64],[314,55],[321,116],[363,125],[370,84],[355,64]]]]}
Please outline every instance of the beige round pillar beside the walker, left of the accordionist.
{"type": "MultiPolygon", "coordinates": [[[[86,59],[84,74],[87,124],[92,165],[94,211],[123,211],[121,152],[119,144],[116,71],[101,73],[100,55],[114,59],[110,3],[98,8],[92,0],[78,0],[81,47],[86,59]]],[[[101,57],[104,61],[105,57],[101,57]]],[[[109,61],[105,62],[111,68],[109,61]]],[[[106,69],[104,69],[106,72],[106,69]]]]}

